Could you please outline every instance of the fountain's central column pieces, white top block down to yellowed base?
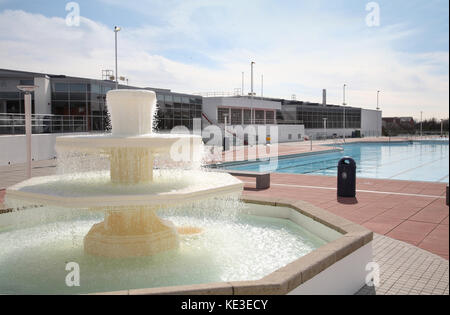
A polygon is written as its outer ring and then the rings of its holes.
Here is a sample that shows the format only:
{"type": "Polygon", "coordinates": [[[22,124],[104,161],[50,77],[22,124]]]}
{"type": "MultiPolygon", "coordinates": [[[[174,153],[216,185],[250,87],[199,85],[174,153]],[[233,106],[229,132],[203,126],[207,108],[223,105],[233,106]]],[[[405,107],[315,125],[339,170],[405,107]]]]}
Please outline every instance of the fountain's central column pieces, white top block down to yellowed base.
{"type": "MultiPolygon", "coordinates": [[[[112,136],[126,143],[129,137],[149,136],[156,107],[150,91],[114,90],[108,92],[112,136]]],[[[110,157],[111,181],[136,185],[153,180],[153,152],[149,147],[113,147],[110,157]]],[[[153,255],[177,248],[176,227],[156,214],[158,206],[118,206],[102,209],[105,220],[95,224],[84,238],[87,253],[106,257],[153,255]]]]}

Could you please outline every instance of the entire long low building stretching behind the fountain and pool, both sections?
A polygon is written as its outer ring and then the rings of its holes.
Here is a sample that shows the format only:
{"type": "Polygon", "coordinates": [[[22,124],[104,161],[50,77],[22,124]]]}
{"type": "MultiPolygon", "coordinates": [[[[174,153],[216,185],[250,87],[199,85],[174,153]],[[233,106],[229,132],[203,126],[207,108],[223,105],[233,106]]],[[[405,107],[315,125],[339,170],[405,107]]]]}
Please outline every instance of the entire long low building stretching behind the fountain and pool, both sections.
{"type": "MultiPolygon", "coordinates": [[[[25,131],[23,92],[17,89],[18,85],[38,86],[32,97],[33,133],[108,129],[106,93],[115,88],[115,82],[0,69],[0,134],[25,131]]],[[[192,129],[194,119],[200,118],[203,127],[214,124],[223,128],[225,120],[227,125],[283,126],[279,134],[289,141],[344,133],[347,137],[381,135],[380,111],[329,105],[325,91],[319,104],[257,96],[202,97],[128,85],[119,88],[156,92],[159,110],[155,127],[159,131],[175,126],[192,129]],[[304,131],[298,126],[304,126],[304,131]]]]}

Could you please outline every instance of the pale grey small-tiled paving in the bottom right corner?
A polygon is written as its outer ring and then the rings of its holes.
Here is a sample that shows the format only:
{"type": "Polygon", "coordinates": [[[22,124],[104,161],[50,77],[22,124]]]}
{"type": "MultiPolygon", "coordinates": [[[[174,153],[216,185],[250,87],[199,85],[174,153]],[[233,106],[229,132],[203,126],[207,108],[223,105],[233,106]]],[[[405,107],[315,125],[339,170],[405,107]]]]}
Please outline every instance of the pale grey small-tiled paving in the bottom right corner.
{"type": "Polygon", "coordinates": [[[380,284],[358,295],[448,295],[448,260],[416,246],[375,234],[374,261],[380,284]]]}

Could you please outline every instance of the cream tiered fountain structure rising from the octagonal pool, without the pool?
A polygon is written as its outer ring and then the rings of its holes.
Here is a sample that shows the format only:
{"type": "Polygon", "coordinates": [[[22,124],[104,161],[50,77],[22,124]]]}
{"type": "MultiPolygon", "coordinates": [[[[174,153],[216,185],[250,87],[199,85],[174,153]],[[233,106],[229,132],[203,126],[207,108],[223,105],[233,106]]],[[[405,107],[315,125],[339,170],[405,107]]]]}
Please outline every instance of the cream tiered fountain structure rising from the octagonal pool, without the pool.
{"type": "Polygon", "coordinates": [[[13,186],[7,190],[7,199],[104,211],[105,220],[95,224],[84,239],[85,252],[106,257],[132,257],[174,249],[178,247],[180,233],[201,232],[196,227],[177,229],[171,222],[158,217],[158,209],[242,190],[243,184],[225,173],[177,170],[185,172],[183,176],[193,178],[189,187],[155,192],[152,189],[155,177],[161,180],[171,176],[153,169],[155,156],[170,155],[171,150],[188,146],[188,158],[192,162],[198,159],[196,152],[200,151],[201,137],[154,134],[154,92],[110,91],[107,104],[112,124],[110,135],[59,137],[56,145],[59,149],[108,155],[108,187],[111,189],[106,187],[99,194],[93,192],[87,196],[84,191],[78,193],[79,186],[83,185],[81,182],[60,191],[57,186],[64,181],[64,175],[58,175],[33,178],[13,186]],[[125,193],[120,192],[120,187],[125,193]],[[132,194],[127,193],[130,188],[132,194]]]}

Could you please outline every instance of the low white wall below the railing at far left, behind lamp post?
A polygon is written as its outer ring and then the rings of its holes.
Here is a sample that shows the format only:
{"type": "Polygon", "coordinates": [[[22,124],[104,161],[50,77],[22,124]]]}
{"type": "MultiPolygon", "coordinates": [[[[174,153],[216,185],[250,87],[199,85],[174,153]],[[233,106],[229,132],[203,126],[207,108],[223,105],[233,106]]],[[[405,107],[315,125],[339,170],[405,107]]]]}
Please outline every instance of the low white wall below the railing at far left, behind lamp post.
{"type": "MultiPolygon", "coordinates": [[[[32,154],[34,161],[49,160],[56,156],[56,137],[64,134],[40,134],[33,135],[31,140],[32,154]]],[[[70,135],[74,135],[73,133],[70,135]]],[[[0,136],[0,165],[25,163],[26,136],[10,135],[0,136]]]]}

